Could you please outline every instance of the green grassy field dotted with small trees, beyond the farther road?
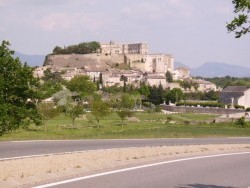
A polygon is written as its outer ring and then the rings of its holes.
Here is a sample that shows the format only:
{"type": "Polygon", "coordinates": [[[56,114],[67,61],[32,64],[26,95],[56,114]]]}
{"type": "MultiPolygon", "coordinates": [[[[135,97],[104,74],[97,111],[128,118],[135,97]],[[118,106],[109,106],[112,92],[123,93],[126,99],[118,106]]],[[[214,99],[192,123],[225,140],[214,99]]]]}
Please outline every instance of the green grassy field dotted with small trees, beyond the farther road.
{"type": "Polygon", "coordinates": [[[86,119],[71,120],[63,115],[46,122],[44,126],[30,126],[18,129],[0,137],[0,140],[41,140],[41,139],[125,139],[125,138],[185,138],[185,137],[234,137],[250,136],[250,123],[245,128],[235,123],[211,123],[216,116],[201,114],[158,114],[135,113],[125,121],[112,113],[100,121],[88,113],[86,119]]]}

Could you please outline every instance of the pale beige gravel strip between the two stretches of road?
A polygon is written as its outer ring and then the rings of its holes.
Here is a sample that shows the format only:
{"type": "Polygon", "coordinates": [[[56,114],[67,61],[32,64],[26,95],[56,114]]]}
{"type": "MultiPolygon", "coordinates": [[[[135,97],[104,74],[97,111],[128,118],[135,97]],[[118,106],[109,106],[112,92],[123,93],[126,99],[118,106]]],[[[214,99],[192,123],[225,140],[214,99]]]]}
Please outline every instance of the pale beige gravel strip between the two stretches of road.
{"type": "Polygon", "coordinates": [[[191,156],[250,151],[250,144],[105,149],[0,161],[0,187],[31,187],[79,175],[191,156]]]}

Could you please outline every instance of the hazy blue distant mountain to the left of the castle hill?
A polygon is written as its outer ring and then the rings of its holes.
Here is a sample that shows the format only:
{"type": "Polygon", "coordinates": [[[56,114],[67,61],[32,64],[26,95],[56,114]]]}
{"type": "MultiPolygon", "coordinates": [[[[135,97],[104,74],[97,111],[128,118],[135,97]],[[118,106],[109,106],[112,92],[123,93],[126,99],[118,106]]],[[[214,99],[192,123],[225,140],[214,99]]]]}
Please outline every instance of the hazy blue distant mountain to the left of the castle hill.
{"type": "Polygon", "coordinates": [[[31,67],[42,66],[45,60],[45,55],[27,55],[15,51],[15,57],[19,57],[22,63],[27,63],[31,67]]]}

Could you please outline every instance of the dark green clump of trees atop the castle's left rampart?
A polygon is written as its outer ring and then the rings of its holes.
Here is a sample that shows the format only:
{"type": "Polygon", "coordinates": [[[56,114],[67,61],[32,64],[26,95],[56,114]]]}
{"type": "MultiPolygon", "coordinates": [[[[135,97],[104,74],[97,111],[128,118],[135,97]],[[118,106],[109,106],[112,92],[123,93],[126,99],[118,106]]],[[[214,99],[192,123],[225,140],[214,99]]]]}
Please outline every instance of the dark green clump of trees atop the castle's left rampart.
{"type": "Polygon", "coordinates": [[[100,43],[96,41],[83,42],[78,45],[71,45],[65,48],[56,46],[53,54],[90,54],[95,53],[100,49],[100,43]]]}

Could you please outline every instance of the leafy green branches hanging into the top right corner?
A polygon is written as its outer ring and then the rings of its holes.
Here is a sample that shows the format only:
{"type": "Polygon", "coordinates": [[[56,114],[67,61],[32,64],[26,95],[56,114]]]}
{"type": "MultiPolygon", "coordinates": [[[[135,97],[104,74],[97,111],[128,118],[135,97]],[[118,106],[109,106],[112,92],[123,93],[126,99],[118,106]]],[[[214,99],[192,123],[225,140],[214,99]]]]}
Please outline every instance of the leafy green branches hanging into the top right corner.
{"type": "Polygon", "coordinates": [[[240,38],[242,35],[250,32],[250,0],[233,0],[234,13],[236,17],[227,23],[228,32],[234,32],[235,38],[240,38]]]}

